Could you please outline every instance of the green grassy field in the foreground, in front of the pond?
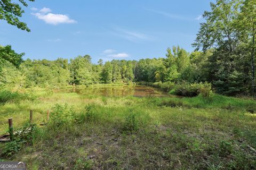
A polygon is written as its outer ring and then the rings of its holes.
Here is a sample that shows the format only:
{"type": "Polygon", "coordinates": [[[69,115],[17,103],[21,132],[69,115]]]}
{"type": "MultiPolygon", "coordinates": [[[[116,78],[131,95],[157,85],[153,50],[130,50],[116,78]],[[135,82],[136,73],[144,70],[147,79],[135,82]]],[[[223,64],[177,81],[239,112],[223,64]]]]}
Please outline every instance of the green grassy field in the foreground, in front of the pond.
{"type": "Polygon", "coordinates": [[[47,126],[37,128],[33,142],[0,159],[24,161],[28,169],[256,168],[255,100],[36,91],[34,101],[0,106],[1,132],[10,116],[14,128],[25,124],[30,108],[36,122],[45,121],[49,108],[62,116],[52,115],[47,126]]]}

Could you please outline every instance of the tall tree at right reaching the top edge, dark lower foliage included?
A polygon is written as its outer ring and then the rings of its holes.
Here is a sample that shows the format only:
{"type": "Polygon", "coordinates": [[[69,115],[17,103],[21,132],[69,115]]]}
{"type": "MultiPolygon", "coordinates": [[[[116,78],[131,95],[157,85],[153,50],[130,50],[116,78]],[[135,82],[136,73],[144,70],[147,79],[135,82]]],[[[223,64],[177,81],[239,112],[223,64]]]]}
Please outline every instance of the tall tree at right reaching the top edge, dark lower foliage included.
{"type": "MultiPolygon", "coordinates": [[[[237,65],[239,56],[239,35],[237,18],[241,7],[240,0],[217,0],[211,3],[211,11],[205,11],[205,22],[197,34],[195,43],[196,50],[202,48],[214,48],[213,55],[209,57],[210,80],[217,91],[223,94],[234,94],[234,91],[242,92],[240,84],[233,83],[237,75],[243,75],[237,65]]],[[[242,77],[240,78],[243,79],[242,77]]]]}

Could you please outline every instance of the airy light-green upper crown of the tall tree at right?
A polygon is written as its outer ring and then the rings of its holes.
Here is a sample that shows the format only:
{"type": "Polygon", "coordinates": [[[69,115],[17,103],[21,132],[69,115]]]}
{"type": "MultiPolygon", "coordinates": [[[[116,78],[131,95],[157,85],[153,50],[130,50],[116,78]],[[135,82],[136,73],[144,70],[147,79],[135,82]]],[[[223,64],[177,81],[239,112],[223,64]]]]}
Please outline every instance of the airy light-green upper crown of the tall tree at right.
{"type": "Polygon", "coordinates": [[[211,11],[205,11],[195,43],[197,50],[203,51],[212,47],[227,46],[232,52],[238,43],[238,30],[235,27],[235,19],[239,12],[239,0],[217,0],[211,3],[211,11]]]}

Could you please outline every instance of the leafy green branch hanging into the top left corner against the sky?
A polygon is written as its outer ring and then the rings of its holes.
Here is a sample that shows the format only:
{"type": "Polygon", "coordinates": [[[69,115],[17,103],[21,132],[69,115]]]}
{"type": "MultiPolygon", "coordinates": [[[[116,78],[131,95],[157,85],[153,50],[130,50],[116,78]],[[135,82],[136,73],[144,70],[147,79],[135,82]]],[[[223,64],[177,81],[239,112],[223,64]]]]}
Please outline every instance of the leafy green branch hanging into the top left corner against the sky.
{"type": "MultiPolygon", "coordinates": [[[[34,2],[35,0],[28,0],[34,2]]],[[[25,0],[19,0],[23,6],[28,6],[25,0]]],[[[2,1],[0,3],[0,20],[6,20],[7,23],[15,25],[21,30],[26,30],[30,32],[30,29],[27,27],[27,24],[20,22],[18,17],[22,16],[24,10],[18,3],[12,2],[11,0],[2,1]]]]}

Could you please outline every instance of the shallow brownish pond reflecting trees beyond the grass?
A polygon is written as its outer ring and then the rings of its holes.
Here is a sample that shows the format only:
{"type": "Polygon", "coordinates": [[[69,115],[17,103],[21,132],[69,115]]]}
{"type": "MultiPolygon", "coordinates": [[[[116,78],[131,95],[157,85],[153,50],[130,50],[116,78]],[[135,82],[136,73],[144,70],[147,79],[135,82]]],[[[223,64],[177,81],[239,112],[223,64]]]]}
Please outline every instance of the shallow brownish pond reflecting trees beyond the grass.
{"type": "Polygon", "coordinates": [[[167,92],[150,86],[91,86],[87,88],[76,87],[66,89],[66,92],[76,92],[81,95],[95,95],[106,97],[171,97],[167,92]]]}

